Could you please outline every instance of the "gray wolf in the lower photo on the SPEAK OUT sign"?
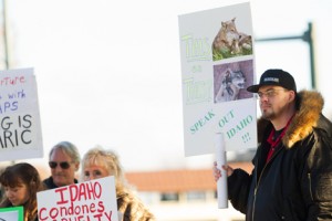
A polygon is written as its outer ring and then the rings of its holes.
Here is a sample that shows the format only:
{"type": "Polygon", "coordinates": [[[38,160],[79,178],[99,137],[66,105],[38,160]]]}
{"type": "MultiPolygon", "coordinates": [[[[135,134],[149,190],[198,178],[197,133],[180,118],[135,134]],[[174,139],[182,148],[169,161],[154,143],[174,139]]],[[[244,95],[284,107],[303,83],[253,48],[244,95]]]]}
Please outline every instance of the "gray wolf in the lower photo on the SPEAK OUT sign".
{"type": "Polygon", "coordinates": [[[227,69],[222,73],[222,80],[215,102],[229,102],[239,98],[240,90],[245,88],[246,76],[241,71],[231,71],[227,69]]]}

